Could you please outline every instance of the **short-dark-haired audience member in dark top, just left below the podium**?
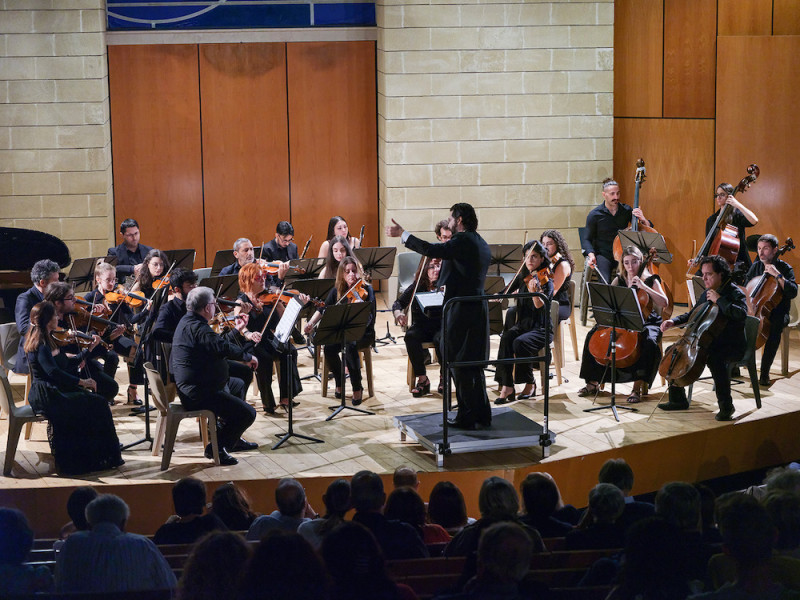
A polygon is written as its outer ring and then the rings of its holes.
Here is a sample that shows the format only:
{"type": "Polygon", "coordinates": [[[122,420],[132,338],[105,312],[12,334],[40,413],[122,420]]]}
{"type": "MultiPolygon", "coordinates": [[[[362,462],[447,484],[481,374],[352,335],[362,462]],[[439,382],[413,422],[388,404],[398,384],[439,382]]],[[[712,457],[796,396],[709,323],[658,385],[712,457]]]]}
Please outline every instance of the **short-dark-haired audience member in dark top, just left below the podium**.
{"type": "Polygon", "coordinates": [[[387,519],[383,514],[386,493],[380,476],[372,471],[356,473],[350,482],[350,497],[356,509],[353,521],[375,536],[388,560],[428,557],[428,549],[411,525],[387,519]]]}

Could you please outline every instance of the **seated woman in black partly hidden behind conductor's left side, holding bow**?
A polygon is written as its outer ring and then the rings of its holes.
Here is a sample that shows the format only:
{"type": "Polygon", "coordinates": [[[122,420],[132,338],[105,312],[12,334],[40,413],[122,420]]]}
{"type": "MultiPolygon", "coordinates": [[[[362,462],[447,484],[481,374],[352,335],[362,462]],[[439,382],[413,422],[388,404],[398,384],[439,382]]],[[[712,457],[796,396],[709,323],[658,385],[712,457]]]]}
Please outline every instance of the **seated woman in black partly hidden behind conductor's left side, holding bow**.
{"type": "MultiPolygon", "coordinates": [[[[442,260],[439,258],[427,259],[424,265],[420,263],[417,274],[414,277],[414,281],[419,282],[416,285],[416,292],[436,291],[438,289],[437,283],[439,281],[439,271],[441,268],[442,260]],[[421,269],[422,272],[420,272],[421,269]]],[[[402,327],[408,324],[407,311],[409,304],[412,302],[414,292],[415,286],[409,285],[392,305],[394,321],[402,327]]],[[[411,315],[413,317],[413,324],[408,328],[408,331],[406,331],[403,340],[406,343],[408,360],[411,362],[411,367],[414,369],[414,376],[417,378],[416,384],[411,389],[411,395],[414,396],[414,398],[419,398],[429,394],[431,391],[431,381],[428,379],[428,375],[425,372],[426,350],[422,347],[422,344],[433,342],[438,356],[439,341],[442,334],[442,309],[441,307],[431,308],[430,314],[427,314],[414,302],[414,304],[411,305],[411,315]]],[[[439,361],[439,364],[441,365],[441,361],[439,361]]],[[[442,393],[443,387],[444,380],[440,371],[440,394],[442,393]]]]}

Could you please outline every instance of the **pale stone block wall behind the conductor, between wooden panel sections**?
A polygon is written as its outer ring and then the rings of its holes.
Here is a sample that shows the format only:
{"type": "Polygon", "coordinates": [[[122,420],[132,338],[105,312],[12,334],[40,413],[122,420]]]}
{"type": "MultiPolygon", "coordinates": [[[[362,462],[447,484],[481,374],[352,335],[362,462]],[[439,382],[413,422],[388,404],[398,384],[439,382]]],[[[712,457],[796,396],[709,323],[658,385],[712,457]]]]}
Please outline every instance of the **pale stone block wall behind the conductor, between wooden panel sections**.
{"type": "Polygon", "coordinates": [[[469,202],[490,243],[554,227],[577,248],[612,169],[613,2],[378,0],[376,16],[383,218],[428,232],[469,202]]]}

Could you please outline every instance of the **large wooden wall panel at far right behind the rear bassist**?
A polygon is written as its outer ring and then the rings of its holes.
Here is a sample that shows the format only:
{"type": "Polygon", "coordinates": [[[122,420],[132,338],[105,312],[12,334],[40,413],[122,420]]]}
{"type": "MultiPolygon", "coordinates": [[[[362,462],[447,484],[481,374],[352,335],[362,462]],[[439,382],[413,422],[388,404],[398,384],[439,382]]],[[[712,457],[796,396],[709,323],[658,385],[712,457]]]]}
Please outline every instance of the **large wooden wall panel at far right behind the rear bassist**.
{"type": "MultiPolygon", "coordinates": [[[[735,185],[747,165],[757,163],[761,176],[742,201],[759,218],[752,232],[781,240],[800,236],[794,204],[800,171],[797,56],[798,36],[720,38],[717,55],[717,85],[726,94],[717,100],[716,178],[735,185]]],[[[787,261],[800,262],[792,254],[787,261]]]]}

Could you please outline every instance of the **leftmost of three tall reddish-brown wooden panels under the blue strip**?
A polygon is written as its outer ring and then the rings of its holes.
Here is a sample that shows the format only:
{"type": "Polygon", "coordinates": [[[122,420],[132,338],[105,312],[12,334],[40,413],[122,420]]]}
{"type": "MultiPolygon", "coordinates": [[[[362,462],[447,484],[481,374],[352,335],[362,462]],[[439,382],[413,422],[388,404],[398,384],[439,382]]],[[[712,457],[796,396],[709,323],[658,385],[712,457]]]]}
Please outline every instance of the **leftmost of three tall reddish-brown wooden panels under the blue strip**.
{"type": "Polygon", "coordinates": [[[202,264],[197,47],[109,46],[108,62],[115,221],[133,217],[143,243],[195,248],[202,264]]]}

